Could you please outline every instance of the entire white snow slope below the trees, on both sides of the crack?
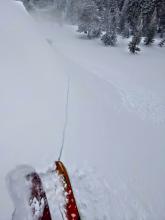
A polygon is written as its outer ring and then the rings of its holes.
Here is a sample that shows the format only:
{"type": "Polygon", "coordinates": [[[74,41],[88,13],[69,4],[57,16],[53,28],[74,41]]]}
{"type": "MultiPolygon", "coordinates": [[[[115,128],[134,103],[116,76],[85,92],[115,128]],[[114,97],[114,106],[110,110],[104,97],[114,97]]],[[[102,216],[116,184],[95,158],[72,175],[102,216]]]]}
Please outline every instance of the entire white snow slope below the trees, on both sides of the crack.
{"type": "Polygon", "coordinates": [[[38,24],[11,1],[1,0],[0,16],[1,218],[13,209],[6,174],[57,159],[70,75],[62,159],[82,219],[164,220],[164,49],[130,56],[125,44],[38,24]]]}

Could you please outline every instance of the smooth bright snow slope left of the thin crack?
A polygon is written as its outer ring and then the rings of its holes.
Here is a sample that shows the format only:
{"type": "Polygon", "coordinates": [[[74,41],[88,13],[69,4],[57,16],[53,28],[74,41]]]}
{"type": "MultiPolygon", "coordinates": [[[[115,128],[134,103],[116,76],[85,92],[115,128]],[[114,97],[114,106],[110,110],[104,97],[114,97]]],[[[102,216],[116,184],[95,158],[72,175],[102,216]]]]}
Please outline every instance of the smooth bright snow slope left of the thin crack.
{"type": "Polygon", "coordinates": [[[6,174],[19,164],[45,167],[57,158],[67,79],[31,17],[0,1],[0,212],[11,219],[6,174]]]}

